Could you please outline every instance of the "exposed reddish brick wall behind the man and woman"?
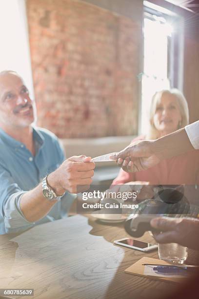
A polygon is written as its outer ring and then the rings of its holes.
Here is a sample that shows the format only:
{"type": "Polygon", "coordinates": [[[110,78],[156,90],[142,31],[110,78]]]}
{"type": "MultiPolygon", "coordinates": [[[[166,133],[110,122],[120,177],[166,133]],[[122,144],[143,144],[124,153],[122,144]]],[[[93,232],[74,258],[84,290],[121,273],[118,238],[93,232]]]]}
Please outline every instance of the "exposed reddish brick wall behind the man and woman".
{"type": "Polygon", "coordinates": [[[77,0],[27,0],[27,16],[38,125],[136,134],[140,24],[77,0]]]}

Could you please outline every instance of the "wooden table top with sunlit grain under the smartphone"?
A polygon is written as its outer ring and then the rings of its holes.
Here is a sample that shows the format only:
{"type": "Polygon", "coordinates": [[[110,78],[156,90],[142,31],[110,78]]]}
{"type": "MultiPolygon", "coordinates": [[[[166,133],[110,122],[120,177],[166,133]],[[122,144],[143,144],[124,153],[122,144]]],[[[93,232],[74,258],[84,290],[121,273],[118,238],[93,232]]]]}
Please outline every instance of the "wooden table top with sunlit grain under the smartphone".
{"type": "MultiPolygon", "coordinates": [[[[0,236],[0,288],[33,288],[37,299],[162,298],[176,284],[125,274],[142,256],[114,245],[127,234],[122,224],[105,225],[76,215],[0,236]]],[[[148,233],[141,238],[152,241],[148,233]]],[[[12,297],[12,296],[11,296],[12,297]]]]}

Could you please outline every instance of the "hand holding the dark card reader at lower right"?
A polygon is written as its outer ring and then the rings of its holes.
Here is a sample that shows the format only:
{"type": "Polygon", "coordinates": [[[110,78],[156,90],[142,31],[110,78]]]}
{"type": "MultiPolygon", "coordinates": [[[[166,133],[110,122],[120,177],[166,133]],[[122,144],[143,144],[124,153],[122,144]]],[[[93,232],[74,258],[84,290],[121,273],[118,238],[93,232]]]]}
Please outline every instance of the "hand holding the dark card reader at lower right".
{"type": "Polygon", "coordinates": [[[195,218],[157,217],[151,226],[161,231],[155,234],[158,243],[178,243],[199,250],[199,220],[195,218]]]}

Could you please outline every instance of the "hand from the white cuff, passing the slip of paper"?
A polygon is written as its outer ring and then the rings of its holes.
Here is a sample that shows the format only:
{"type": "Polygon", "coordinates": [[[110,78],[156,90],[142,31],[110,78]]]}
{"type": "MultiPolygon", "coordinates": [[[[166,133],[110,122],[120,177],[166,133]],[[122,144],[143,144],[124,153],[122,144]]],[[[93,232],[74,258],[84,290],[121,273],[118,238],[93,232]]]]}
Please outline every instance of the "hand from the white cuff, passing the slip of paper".
{"type": "Polygon", "coordinates": [[[113,160],[118,160],[117,164],[124,171],[143,171],[159,163],[159,157],[153,150],[154,141],[137,141],[127,148],[110,156],[113,160]]]}

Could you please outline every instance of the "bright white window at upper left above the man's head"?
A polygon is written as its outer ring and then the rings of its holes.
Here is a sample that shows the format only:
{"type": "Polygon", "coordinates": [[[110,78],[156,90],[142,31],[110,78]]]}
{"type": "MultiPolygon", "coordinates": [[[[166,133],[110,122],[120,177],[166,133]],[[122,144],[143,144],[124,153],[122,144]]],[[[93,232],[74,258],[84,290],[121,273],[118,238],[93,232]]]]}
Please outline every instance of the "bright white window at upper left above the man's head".
{"type": "Polygon", "coordinates": [[[0,71],[17,71],[33,97],[24,0],[0,0],[0,71]]]}

